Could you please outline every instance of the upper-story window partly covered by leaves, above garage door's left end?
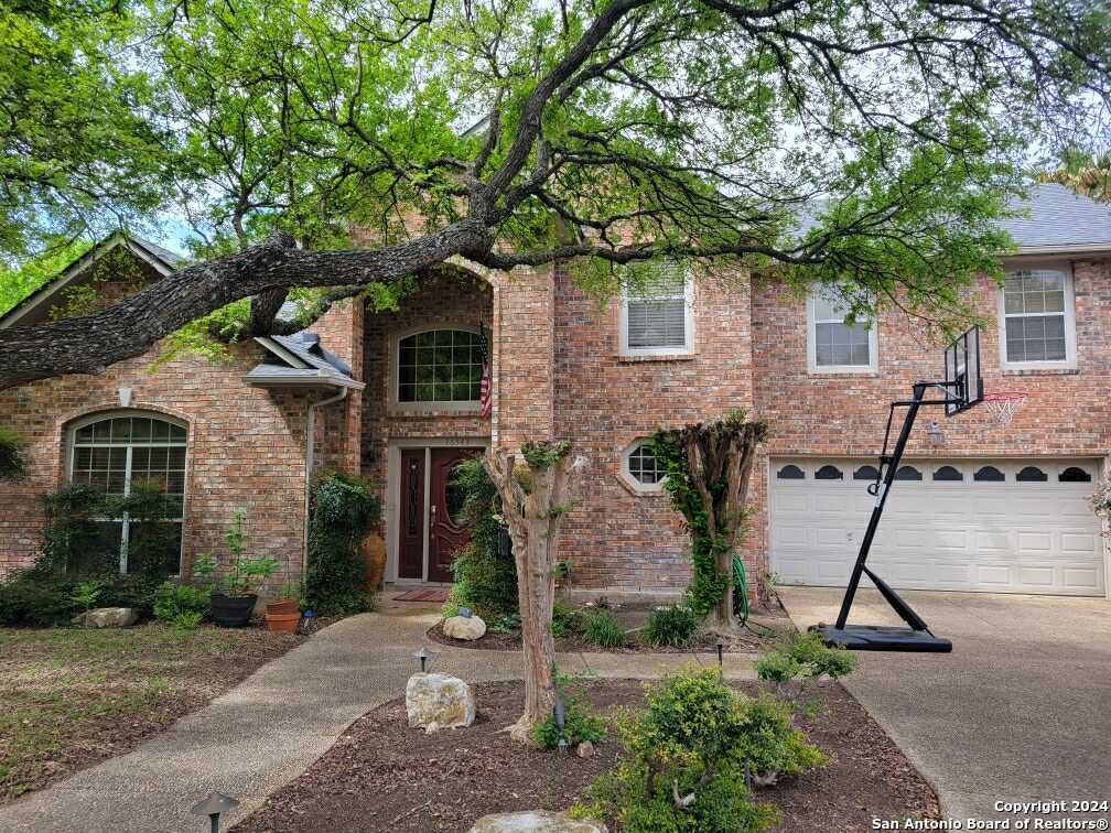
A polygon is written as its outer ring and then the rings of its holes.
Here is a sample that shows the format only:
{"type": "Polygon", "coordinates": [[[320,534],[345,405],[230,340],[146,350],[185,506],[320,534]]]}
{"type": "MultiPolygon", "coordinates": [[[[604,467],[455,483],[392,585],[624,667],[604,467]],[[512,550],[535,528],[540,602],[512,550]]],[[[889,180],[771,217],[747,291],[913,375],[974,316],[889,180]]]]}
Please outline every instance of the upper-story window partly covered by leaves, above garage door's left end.
{"type": "Polygon", "coordinates": [[[869,373],[879,367],[875,324],[845,323],[849,307],[828,292],[807,300],[807,363],[811,373],[869,373]]]}

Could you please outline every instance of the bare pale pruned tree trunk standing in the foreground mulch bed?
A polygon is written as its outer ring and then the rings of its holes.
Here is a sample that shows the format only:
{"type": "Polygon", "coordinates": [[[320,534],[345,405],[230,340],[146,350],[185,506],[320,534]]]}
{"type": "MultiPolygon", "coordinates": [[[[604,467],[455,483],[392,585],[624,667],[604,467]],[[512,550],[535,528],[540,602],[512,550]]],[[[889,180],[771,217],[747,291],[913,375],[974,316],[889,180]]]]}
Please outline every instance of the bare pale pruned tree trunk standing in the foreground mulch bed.
{"type": "Polygon", "coordinates": [[[550,449],[554,461],[547,466],[518,463],[516,456],[506,451],[491,451],[484,460],[501,495],[502,516],[509,526],[517,563],[524,710],[510,732],[519,741],[529,740],[532,726],[551,714],[556,702],[556,641],[552,638],[556,554],[561,519],[567,511],[568,484],[578,466],[568,460],[569,444],[550,449]]]}

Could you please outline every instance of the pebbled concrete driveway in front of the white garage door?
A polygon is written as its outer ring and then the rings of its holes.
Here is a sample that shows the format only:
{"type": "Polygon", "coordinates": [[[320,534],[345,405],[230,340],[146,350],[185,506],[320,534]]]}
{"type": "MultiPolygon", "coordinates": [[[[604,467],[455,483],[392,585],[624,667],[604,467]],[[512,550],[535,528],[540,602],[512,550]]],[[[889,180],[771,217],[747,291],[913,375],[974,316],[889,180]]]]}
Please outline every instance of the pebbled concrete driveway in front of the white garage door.
{"type": "MultiPolygon", "coordinates": [[[[800,630],[837,619],[841,590],[779,592],[800,630]]],[[[1111,601],[903,598],[953,652],[861,652],[847,688],[934,785],[945,816],[1013,825],[1062,814],[998,813],[997,801],[1111,802],[1111,601]]],[[[873,590],[858,593],[850,622],[902,624],[873,590]]],[[[1097,821],[1111,812],[1063,815],[1097,821]]]]}

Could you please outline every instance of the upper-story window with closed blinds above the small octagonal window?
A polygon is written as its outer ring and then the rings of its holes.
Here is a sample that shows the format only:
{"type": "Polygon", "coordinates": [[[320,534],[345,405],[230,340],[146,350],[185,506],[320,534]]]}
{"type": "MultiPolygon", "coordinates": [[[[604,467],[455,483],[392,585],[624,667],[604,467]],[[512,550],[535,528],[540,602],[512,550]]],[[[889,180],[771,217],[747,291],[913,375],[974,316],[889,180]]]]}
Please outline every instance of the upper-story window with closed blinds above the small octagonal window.
{"type": "Polygon", "coordinates": [[[621,298],[621,352],[689,353],[693,344],[691,281],[675,261],[653,263],[643,285],[621,298]]]}

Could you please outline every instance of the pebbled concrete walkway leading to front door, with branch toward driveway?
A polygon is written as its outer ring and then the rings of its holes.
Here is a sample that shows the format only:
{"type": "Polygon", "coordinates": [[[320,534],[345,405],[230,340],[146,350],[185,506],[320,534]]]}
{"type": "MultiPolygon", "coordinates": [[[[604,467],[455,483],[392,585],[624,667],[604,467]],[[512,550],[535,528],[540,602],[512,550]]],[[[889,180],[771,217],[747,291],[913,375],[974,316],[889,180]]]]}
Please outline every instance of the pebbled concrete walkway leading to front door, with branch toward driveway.
{"type": "MultiPolygon", "coordinates": [[[[472,682],[520,678],[516,652],[428,641],[439,608],[386,602],[381,613],[337,622],[133,752],[0,809],[0,831],[197,833],[208,821],[189,811],[213,790],[241,802],[227,816],[234,823],[304,772],[356,719],[402,695],[420,645],[440,652],[433,671],[472,682]]],[[[717,665],[717,658],[697,661],[717,665]]],[[[632,679],[691,662],[690,654],[559,656],[564,672],[632,679]]],[[[749,679],[750,669],[748,658],[727,655],[728,676],[749,679]]]]}

